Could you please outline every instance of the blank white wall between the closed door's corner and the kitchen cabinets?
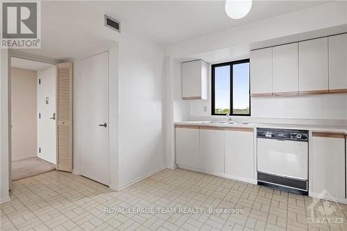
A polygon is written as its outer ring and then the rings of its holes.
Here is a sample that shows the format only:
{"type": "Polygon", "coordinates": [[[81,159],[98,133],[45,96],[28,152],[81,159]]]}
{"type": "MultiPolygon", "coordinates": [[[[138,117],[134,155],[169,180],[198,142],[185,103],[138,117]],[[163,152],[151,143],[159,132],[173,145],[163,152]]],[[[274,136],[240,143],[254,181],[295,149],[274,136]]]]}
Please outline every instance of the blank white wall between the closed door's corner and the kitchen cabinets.
{"type": "Polygon", "coordinates": [[[161,44],[119,43],[119,188],[166,168],[165,68],[161,44]]]}

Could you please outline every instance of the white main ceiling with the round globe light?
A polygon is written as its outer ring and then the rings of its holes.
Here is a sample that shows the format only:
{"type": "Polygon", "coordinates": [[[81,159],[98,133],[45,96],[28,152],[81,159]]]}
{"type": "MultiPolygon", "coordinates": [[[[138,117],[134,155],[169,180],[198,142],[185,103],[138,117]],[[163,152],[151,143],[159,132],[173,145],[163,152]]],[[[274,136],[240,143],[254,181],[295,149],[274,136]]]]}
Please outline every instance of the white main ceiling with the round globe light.
{"type": "Polygon", "coordinates": [[[83,1],[162,44],[240,26],[327,1],[257,1],[242,19],[230,19],[225,1],[83,1]]]}

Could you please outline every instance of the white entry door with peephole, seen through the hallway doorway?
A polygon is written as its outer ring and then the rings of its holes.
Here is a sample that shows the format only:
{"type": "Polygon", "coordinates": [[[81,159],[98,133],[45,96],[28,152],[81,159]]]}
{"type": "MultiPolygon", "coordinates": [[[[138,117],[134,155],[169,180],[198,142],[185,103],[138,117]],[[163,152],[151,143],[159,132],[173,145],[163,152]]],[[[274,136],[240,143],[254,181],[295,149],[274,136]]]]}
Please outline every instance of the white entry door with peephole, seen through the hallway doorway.
{"type": "Polygon", "coordinates": [[[56,66],[37,71],[37,157],[56,164],[56,66]]]}

